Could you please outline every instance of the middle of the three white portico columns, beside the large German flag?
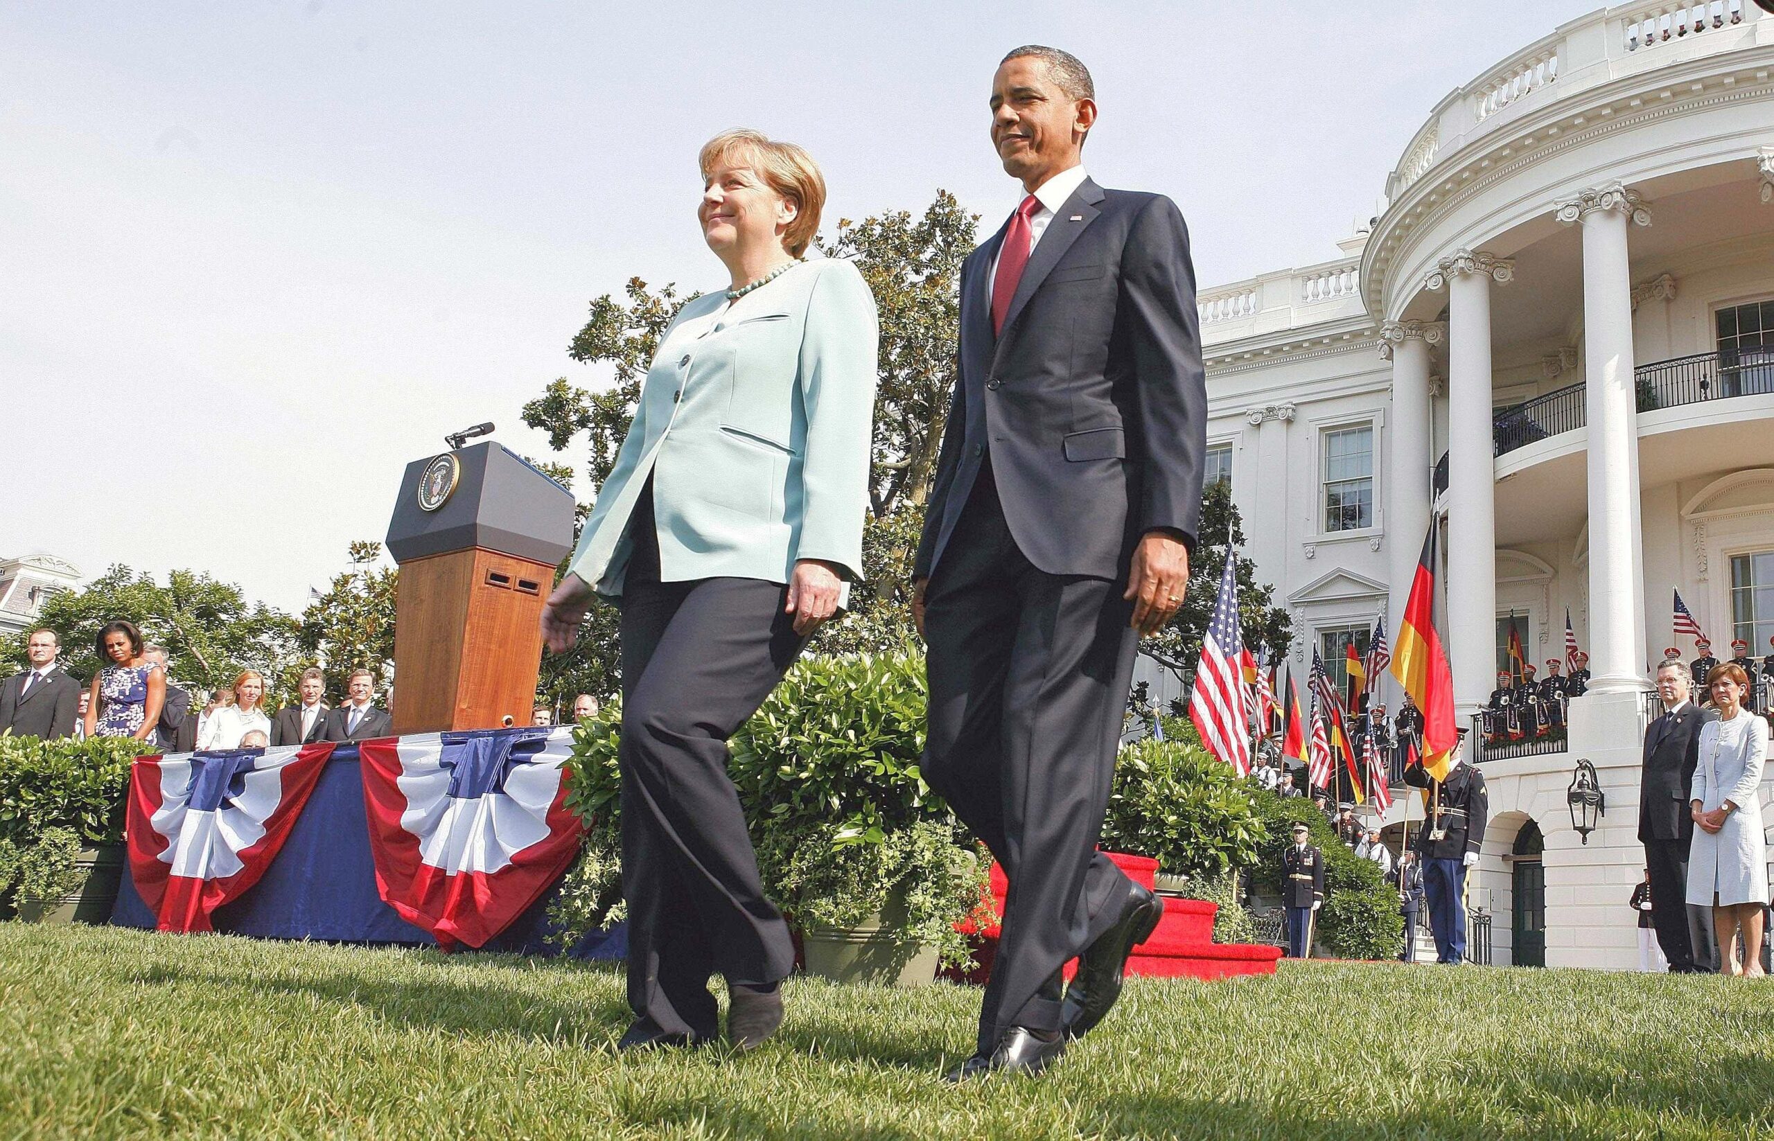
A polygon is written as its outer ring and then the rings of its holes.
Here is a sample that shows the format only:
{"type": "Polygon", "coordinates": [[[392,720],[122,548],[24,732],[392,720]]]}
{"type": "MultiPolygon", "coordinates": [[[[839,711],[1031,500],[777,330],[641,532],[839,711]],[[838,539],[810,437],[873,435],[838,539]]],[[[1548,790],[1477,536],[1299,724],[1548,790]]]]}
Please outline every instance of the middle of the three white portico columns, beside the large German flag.
{"type": "Polygon", "coordinates": [[[1490,282],[1513,275],[1513,261],[1458,250],[1425,282],[1448,287],[1448,664],[1462,722],[1490,697],[1497,662],[1490,282]]]}

